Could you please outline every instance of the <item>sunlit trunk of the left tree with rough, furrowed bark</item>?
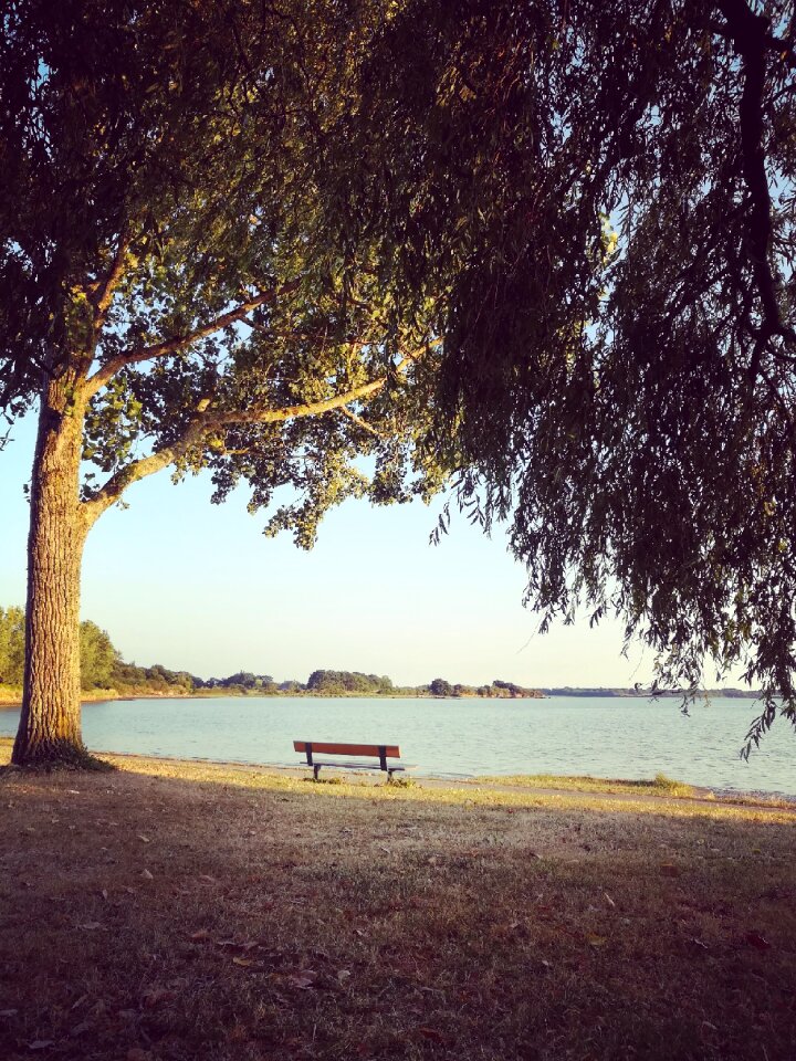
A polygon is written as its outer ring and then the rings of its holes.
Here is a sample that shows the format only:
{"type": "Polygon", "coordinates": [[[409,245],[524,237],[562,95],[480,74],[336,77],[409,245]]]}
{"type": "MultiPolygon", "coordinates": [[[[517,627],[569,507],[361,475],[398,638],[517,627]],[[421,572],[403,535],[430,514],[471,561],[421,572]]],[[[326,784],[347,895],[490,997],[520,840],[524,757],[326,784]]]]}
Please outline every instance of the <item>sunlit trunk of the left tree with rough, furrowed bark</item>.
{"type": "Polygon", "coordinates": [[[85,761],[81,737],[80,505],[85,406],[67,369],[44,382],[31,479],[22,716],[12,761],[85,761]]]}

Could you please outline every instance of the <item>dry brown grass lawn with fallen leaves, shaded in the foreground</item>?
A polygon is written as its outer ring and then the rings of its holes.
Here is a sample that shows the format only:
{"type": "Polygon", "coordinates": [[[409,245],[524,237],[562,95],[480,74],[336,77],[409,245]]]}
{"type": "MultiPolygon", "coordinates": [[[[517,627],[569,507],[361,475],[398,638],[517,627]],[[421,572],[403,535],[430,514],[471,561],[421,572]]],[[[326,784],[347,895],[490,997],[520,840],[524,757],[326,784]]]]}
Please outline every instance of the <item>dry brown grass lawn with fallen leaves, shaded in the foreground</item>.
{"type": "Polygon", "coordinates": [[[793,1061],[793,812],[116,761],[0,773],[3,1061],[793,1061]]]}

